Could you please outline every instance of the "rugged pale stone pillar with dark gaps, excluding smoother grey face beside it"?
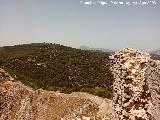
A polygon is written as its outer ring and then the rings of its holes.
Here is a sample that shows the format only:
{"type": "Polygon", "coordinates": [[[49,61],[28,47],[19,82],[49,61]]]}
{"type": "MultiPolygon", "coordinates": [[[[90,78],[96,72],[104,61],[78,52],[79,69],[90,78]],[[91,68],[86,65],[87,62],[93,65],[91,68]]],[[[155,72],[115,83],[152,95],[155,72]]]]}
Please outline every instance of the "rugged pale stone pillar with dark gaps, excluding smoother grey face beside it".
{"type": "Polygon", "coordinates": [[[150,120],[151,93],[145,78],[150,55],[125,48],[110,57],[114,75],[113,107],[120,120],[150,120]]]}

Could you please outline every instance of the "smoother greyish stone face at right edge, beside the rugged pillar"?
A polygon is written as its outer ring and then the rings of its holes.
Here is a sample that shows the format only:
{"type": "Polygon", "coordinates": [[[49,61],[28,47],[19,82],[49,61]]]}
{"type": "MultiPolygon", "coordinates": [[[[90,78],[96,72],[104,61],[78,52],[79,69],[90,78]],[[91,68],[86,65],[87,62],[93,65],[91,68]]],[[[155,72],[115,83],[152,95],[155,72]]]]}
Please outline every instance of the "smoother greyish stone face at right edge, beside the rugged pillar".
{"type": "Polygon", "coordinates": [[[150,60],[146,70],[146,80],[151,92],[151,114],[155,120],[160,119],[160,61],[150,60]]]}

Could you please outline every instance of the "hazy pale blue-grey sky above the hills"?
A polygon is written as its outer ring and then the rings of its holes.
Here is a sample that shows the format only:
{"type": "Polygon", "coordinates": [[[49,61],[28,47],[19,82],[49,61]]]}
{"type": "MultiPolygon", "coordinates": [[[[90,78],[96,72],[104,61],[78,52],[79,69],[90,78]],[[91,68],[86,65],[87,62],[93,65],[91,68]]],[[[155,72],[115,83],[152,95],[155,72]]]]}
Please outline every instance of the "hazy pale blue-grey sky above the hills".
{"type": "Polygon", "coordinates": [[[0,46],[35,42],[160,49],[160,3],[102,6],[81,0],[0,0],[0,46]]]}

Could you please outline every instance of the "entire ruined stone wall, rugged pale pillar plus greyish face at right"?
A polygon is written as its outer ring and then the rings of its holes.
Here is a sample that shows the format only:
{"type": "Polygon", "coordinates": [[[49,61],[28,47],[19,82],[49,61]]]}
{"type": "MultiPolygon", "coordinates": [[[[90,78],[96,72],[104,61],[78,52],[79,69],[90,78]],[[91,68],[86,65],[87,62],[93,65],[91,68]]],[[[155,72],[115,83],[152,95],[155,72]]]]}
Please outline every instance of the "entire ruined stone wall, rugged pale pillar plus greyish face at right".
{"type": "Polygon", "coordinates": [[[126,48],[111,57],[113,107],[120,120],[160,119],[160,62],[126,48]],[[159,119],[158,119],[159,118],[159,119]]]}

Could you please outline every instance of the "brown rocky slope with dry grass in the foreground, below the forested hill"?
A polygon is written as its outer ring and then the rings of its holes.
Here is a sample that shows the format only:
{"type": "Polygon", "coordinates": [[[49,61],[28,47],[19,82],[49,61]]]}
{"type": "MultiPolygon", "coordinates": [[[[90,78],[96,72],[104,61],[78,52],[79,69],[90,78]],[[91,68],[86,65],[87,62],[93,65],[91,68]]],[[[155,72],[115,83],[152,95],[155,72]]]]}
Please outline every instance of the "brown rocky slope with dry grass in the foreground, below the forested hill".
{"type": "Polygon", "coordinates": [[[112,120],[111,100],[87,93],[33,90],[1,69],[0,120],[112,120]]]}

